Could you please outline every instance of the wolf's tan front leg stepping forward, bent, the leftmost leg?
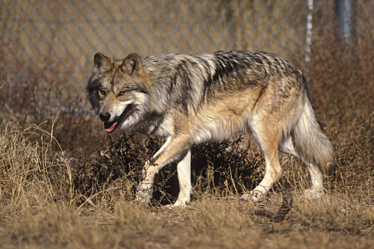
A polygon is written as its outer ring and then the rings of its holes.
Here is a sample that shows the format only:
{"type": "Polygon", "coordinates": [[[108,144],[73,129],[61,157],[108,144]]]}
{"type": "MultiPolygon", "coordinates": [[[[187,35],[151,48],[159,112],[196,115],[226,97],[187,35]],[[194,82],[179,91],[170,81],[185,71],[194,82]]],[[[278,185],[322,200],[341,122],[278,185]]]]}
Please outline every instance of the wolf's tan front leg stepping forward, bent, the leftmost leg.
{"type": "Polygon", "coordinates": [[[154,175],[166,164],[169,164],[172,161],[181,161],[181,159],[183,159],[189,151],[190,146],[191,138],[189,136],[171,136],[152,157],[151,160],[154,162],[154,164],[147,162],[144,165],[142,171],[143,179],[138,185],[138,191],[135,196],[135,199],[141,205],[147,205],[152,197],[154,175]]]}

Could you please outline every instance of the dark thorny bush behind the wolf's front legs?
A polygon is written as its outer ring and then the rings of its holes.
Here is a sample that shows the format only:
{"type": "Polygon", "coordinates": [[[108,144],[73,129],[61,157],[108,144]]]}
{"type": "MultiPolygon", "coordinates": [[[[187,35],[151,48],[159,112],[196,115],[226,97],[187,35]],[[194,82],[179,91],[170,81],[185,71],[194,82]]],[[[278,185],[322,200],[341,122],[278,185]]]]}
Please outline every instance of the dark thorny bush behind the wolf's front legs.
{"type": "MultiPolygon", "coordinates": [[[[191,175],[195,192],[211,195],[223,194],[225,190],[245,191],[258,181],[259,173],[256,169],[263,163],[263,159],[256,154],[255,158],[249,160],[249,146],[243,146],[242,140],[238,136],[232,140],[193,146],[191,175]]],[[[102,151],[100,156],[74,164],[75,189],[89,197],[114,182],[121,182],[124,196],[133,199],[145,161],[151,159],[161,144],[162,141],[151,137],[140,143],[134,136],[127,134],[117,141],[111,140],[109,148],[102,151]]],[[[176,199],[179,187],[175,175],[175,163],[166,165],[157,174],[153,205],[170,203],[176,199]]]]}

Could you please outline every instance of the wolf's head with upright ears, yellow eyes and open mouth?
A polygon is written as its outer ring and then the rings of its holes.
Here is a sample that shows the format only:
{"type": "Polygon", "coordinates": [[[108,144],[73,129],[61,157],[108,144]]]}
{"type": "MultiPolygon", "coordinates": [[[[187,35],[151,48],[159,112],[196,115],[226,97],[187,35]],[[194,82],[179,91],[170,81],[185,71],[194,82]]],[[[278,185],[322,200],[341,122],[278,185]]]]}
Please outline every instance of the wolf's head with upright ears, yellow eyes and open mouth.
{"type": "Polygon", "coordinates": [[[107,132],[118,127],[133,130],[141,121],[149,101],[147,75],[139,55],[112,60],[96,53],[87,93],[107,132]]]}

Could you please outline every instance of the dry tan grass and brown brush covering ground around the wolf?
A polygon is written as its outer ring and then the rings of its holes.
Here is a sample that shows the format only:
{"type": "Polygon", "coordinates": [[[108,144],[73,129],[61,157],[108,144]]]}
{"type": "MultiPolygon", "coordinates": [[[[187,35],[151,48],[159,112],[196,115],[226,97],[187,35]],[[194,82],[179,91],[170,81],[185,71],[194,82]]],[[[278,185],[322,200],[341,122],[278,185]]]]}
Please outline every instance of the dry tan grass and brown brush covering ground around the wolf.
{"type": "MultiPolygon", "coordinates": [[[[227,153],[228,142],[205,145],[206,151],[221,148],[221,157],[197,149],[195,160],[203,163],[195,165],[187,209],[165,209],[160,202],[137,206],[132,200],[137,173],[130,166],[141,165],[159,141],[137,134],[121,144],[123,138],[105,134],[98,118],[76,115],[79,100],[53,115],[66,104],[53,98],[53,87],[40,90],[35,78],[23,94],[14,93],[8,87],[12,75],[1,71],[1,248],[374,248],[373,20],[358,18],[352,45],[337,41],[335,29],[318,30],[310,95],[335,147],[337,179],[327,179],[323,199],[308,201],[302,195],[310,185],[305,167],[282,156],[294,208],[280,223],[254,214],[279,208],[279,184],[260,204],[239,200],[263,170],[255,144],[248,149],[239,143],[240,153],[227,153]],[[31,104],[39,100],[45,102],[31,104]],[[135,150],[141,151],[137,158],[135,150]],[[130,161],[124,164],[124,158],[130,161]]],[[[288,57],[296,64],[298,58],[288,57]]],[[[160,174],[155,199],[162,203],[177,194],[173,171],[171,166],[160,174]]]]}

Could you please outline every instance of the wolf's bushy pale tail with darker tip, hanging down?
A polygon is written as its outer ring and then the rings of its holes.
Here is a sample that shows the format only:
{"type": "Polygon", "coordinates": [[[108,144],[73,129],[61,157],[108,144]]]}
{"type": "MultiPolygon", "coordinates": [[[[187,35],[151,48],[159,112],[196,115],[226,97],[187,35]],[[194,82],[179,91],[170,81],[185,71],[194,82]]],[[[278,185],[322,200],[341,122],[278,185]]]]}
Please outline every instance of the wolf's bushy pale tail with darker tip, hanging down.
{"type": "Polygon", "coordinates": [[[301,159],[334,174],[335,153],[330,139],[323,130],[306,98],[304,110],[292,131],[295,147],[301,159]]]}

